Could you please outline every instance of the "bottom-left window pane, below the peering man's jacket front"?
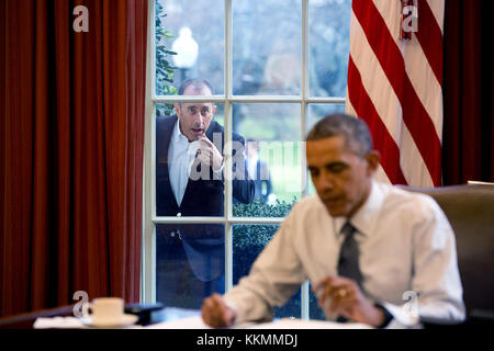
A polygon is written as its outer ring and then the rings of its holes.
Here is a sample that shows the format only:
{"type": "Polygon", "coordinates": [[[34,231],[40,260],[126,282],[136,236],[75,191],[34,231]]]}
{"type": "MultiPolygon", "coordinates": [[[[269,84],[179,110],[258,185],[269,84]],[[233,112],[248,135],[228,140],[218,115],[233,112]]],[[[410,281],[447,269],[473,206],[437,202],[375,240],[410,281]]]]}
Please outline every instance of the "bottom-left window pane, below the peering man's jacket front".
{"type": "Polygon", "coordinates": [[[222,224],[156,225],[156,299],[166,306],[200,308],[225,291],[222,224]]]}

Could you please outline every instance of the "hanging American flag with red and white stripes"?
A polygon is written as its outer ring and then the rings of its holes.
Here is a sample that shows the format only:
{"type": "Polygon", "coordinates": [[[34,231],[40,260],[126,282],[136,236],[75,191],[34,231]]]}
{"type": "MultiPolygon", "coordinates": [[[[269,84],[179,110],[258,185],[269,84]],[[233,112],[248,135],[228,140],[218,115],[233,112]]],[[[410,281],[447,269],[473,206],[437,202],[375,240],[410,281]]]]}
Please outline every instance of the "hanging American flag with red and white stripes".
{"type": "Polygon", "coordinates": [[[441,185],[444,0],[353,0],[347,113],[382,156],[377,179],[441,185]]]}

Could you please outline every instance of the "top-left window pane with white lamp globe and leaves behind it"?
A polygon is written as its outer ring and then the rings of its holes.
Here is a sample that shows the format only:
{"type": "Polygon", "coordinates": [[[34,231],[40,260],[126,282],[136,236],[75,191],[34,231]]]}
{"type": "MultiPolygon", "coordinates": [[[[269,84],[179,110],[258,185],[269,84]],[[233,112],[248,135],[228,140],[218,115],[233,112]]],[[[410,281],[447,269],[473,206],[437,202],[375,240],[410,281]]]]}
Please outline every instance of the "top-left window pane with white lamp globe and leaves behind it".
{"type": "MultiPolygon", "coordinates": [[[[172,38],[157,43],[156,93],[165,94],[160,86],[159,46],[178,53],[167,56],[178,67],[173,73],[175,88],[188,78],[202,78],[214,87],[214,94],[224,93],[225,20],[223,0],[156,0],[156,14],[164,15],[161,29],[172,38]],[[162,10],[161,10],[162,9],[162,10]],[[161,10],[161,11],[160,11],[161,10]],[[175,46],[173,46],[175,45],[175,46]]],[[[159,35],[157,27],[157,35],[159,35]]],[[[162,68],[162,66],[161,66],[162,68]]]]}

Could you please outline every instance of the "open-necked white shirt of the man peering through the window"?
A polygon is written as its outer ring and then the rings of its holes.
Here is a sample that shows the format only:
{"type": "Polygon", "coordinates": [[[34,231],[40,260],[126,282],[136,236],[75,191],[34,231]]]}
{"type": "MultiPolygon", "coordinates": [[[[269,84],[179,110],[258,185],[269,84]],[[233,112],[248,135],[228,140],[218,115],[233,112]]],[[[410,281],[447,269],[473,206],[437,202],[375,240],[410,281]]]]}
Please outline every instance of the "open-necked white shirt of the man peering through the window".
{"type": "Polygon", "coordinates": [[[177,204],[182,203],[189,182],[190,170],[198,154],[199,140],[189,143],[187,136],[180,132],[179,121],[175,124],[171,133],[170,146],[168,147],[168,172],[170,185],[177,204]]]}

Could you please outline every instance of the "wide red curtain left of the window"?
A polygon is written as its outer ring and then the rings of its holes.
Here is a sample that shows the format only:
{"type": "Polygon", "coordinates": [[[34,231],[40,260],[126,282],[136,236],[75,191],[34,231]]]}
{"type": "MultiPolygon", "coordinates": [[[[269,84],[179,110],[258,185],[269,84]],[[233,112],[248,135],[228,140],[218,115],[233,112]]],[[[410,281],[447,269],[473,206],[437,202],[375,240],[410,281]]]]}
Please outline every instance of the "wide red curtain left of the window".
{"type": "Polygon", "coordinates": [[[0,2],[0,315],[137,302],[147,0],[0,2]]]}

